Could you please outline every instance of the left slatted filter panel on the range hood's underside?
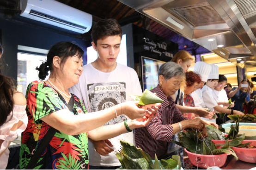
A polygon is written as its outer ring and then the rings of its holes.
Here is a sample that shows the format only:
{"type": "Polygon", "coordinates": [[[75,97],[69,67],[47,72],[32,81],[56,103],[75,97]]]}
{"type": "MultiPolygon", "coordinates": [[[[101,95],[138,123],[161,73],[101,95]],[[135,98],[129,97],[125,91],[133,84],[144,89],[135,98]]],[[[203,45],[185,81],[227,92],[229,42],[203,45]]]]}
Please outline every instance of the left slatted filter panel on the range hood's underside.
{"type": "Polygon", "coordinates": [[[225,23],[217,11],[207,2],[170,10],[182,17],[193,27],[225,23]]]}

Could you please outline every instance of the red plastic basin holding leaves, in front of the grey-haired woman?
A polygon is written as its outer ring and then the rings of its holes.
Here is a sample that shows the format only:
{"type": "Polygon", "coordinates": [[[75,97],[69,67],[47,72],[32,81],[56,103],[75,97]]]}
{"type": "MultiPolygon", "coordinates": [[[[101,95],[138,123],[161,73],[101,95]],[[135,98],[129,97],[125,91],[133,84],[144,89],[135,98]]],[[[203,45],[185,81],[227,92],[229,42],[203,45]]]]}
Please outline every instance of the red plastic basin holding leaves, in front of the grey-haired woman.
{"type": "Polygon", "coordinates": [[[221,155],[200,155],[200,154],[191,153],[187,149],[184,149],[184,150],[186,153],[188,153],[189,160],[191,161],[191,163],[202,169],[207,169],[207,167],[213,167],[213,166],[218,166],[219,168],[221,168],[226,163],[227,156],[228,156],[227,153],[221,154],[221,155]]]}

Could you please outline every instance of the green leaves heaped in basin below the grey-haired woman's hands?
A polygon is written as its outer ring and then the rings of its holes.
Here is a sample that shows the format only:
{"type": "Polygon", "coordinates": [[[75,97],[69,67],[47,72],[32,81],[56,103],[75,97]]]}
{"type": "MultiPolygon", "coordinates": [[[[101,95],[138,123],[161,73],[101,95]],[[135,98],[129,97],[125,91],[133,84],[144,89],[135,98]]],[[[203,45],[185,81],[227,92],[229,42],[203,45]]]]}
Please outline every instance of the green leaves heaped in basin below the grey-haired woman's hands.
{"type": "Polygon", "coordinates": [[[201,154],[201,155],[220,155],[220,154],[232,154],[237,158],[236,153],[231,149],[231,147],[236,147],[240,145],[245,138],[245,135],[234,139],[233,141],[226,140],[225,147],[217,149],[216,145],[212,140],[207,137],[201,140],[201,133],[197,133],[196,130],[188,130],[186,132],[180,132],[178,134],[179,141],[172,140],[175,144],[186,148],[191,153],[201,154]],[[198,135],[199,134],[199,135],[198,135]],[[233,153],[231,153],[231,150],[233,153]]]}

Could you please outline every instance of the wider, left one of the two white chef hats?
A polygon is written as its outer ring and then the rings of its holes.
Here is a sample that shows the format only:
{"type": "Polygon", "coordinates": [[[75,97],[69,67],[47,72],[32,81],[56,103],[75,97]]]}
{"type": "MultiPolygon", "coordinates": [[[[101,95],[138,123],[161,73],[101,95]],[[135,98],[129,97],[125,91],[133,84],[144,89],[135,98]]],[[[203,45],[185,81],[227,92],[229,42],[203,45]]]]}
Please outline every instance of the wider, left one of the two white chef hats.
{"type": "Polygon", "coordinates": [[[201,76],[201,80],[207,82],[209,74],[211,73],[212,67],[206,62],[196,62],[194,73],[201,76]]]}

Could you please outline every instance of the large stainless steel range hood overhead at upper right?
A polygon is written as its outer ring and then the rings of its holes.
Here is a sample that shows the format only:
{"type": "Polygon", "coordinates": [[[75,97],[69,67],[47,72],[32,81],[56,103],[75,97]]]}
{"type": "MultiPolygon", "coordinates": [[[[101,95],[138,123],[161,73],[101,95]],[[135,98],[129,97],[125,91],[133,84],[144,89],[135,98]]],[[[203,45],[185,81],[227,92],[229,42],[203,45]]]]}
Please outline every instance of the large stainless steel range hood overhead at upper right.
{"type": "Polygon", "coordinates": [[[119,1],[241,68],[256,67],[256,0],[119,1]]]}

